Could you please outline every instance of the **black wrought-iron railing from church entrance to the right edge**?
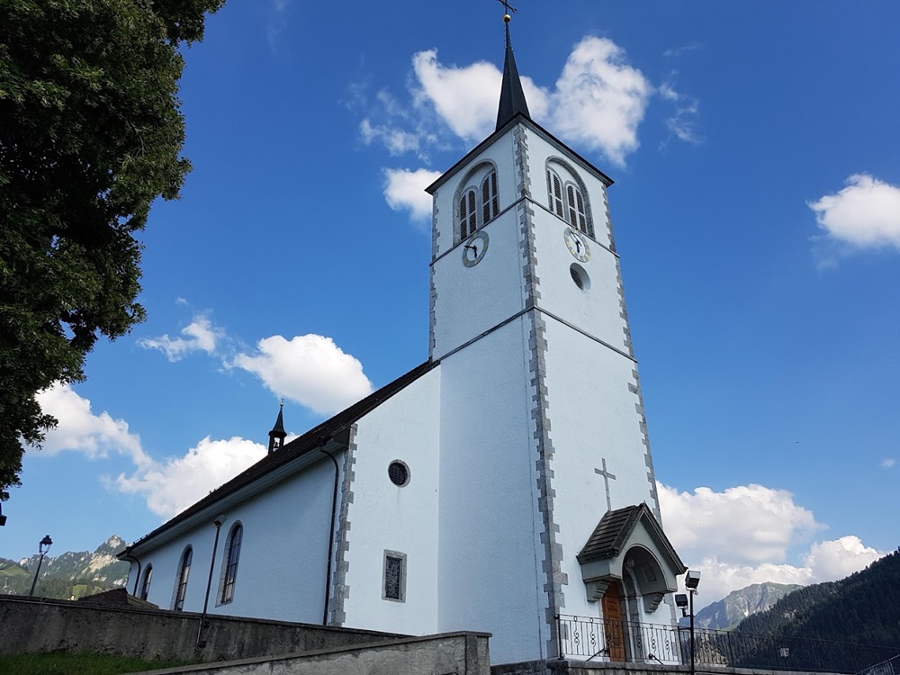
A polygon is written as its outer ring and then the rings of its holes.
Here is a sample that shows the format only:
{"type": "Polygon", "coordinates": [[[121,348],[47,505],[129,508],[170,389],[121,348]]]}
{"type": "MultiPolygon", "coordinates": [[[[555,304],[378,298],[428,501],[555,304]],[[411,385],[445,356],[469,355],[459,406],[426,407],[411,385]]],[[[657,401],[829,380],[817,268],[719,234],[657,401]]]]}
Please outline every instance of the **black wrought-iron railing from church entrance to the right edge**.
{"type": "MultiPolygon", "coordinates": [[[[557,617],[559,651],[564,658],[584,661],[687,664],[689,628],[629,621],[605,622],[597,617],[557,617]]],[[[734,668],[775,671],[860,673],[871,664],[896,656],[896,647],[838,643],[797,637],[756,635],[698,628],[694,631],[694,662],[734,668]]],[[[886,662],[887,663],[887,662],[886,662]]],[[[896,663],[900,666],[900,662],[896,663]]],[[[900,675],[895,671],[864,671],[866,675],[900,675]]]]}

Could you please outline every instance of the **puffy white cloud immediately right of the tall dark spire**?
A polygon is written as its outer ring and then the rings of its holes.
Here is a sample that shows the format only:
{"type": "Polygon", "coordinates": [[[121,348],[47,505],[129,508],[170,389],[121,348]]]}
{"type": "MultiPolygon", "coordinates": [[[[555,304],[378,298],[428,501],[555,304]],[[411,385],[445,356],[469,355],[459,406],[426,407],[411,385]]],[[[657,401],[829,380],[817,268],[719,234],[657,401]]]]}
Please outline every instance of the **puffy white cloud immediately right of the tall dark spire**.
{"type": "Polygon", "coordinates": [[[584,38],[556,81],[554,130],[624,165],[626,155],[640,145],[637,126],[652,92],[644,74],[626,63],[624,49],[606,38],[584,38]]]}

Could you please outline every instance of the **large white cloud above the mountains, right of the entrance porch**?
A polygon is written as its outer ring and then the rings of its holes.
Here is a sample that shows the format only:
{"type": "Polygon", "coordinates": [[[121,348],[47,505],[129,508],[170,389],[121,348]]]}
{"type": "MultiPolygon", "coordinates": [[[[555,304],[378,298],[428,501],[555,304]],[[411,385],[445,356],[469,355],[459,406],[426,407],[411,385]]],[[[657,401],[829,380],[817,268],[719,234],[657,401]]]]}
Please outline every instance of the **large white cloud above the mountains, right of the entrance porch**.
{"type": "Polygon", "coordinates": [[[787,491],[742,485],[680,492],[657,483],[666,534],[682,560],[703,574],[701,606],[753,583],[810,584],[858,572],[884,553],[857,536],[811,543],[797,563],[788,550],[824,526],[787,491]]]}

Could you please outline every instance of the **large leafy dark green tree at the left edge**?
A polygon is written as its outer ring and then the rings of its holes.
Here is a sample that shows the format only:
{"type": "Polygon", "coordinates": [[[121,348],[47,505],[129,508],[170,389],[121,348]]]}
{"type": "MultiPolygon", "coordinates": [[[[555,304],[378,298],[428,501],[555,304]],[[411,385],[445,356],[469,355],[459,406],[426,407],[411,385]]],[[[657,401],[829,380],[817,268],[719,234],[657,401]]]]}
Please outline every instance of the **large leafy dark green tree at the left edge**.
{"type": "Polygon", "coordinates": [[[144,228],[190,170],[179,49],[224,0],[0,0],[0,500],[100,336],[144,318],[144,228]]]}

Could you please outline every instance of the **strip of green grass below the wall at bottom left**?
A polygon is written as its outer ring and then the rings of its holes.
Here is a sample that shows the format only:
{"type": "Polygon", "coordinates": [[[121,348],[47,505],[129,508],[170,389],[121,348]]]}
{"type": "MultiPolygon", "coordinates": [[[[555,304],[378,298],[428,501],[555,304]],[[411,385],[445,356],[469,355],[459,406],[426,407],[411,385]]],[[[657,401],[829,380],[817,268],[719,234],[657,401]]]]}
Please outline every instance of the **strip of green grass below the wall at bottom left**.
{"type": "Polygon", "coordinates": [[[130,656],[57,652],[49,654],[0,654],[4,675],[121,675],[191,665],[192,661],[147,661],[130,656]]]}

